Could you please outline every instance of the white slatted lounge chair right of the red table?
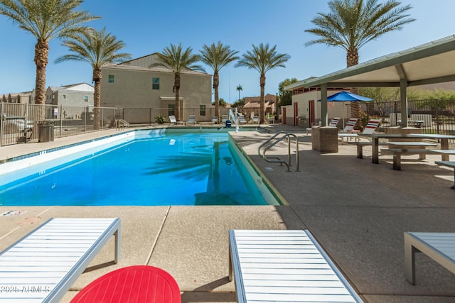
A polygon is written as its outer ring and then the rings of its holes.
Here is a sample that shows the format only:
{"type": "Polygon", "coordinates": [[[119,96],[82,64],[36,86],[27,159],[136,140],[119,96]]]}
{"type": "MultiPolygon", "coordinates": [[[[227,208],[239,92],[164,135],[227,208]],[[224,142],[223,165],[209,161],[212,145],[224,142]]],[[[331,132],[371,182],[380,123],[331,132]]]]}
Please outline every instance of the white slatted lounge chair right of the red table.
{"type": "Polygon", "coordinates": [[[237,302],[363,302],[304,231],[230,230],[237,302]]]}

